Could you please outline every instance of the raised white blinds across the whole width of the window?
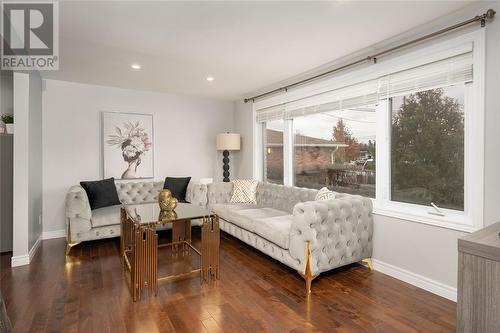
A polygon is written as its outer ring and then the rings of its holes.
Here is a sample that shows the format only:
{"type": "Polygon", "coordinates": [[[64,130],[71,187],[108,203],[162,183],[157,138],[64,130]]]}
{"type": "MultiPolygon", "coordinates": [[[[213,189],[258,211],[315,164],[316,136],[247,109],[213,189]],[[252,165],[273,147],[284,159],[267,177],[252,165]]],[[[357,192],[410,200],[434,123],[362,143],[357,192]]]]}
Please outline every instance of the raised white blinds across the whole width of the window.
{"type": "MultiPolygon", "coordinates": [[[[445,59],[398,72],[385,71],[376,79],[338,88],[335,84],[301,88],[302,93],[284,93],[261,102],[256,108],[257,122],[291,119],[314,113],[336,111],[367,104],[380,99],[404,95],[472,81],[472,44],[462,47],[460,53],[445,59]],[[335,86],[334,86],[335,84],[335,86]],[[330,87],[330,88],[329,88],[330,87]]],[[[375,65],[376,66],[376,65],[375,65]]],[[[362,78],[361,78],[362,79],[362,78]]]]}

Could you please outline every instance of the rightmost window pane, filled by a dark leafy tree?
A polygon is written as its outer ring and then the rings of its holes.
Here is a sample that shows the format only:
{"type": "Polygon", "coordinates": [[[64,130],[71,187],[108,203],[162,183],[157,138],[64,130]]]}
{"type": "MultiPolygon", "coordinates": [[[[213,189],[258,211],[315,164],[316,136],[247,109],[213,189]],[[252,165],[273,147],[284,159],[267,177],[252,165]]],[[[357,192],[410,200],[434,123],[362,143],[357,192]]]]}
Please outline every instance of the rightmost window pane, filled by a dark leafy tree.
{"type": "Polygon", "coordinates": [[[391,199],[464,210],[465,85],[391,100],[391,199]]]}

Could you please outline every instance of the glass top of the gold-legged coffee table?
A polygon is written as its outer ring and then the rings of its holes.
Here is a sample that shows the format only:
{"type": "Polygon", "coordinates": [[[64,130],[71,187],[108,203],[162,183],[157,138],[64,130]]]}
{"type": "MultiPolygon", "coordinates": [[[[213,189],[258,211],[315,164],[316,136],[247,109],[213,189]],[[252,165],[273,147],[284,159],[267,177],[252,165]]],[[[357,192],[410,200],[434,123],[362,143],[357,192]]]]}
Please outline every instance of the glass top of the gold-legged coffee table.
{"type": "Polygon", "coordinates": [[[123,205],[127,216],[134,223],[165,224],[177,220],[193,220],[213,215],[209,209],[191,203],[177,203],[173,211],[162,211],[157,202],[138,205],[123,205]]]}

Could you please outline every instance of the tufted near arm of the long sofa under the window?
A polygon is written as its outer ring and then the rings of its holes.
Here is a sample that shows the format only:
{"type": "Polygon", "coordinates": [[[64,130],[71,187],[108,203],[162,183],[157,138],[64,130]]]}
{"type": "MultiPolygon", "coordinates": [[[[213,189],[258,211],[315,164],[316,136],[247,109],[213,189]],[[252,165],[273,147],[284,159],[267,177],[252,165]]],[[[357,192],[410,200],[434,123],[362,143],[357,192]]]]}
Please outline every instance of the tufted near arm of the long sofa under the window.
{"type": "Polygon", "coordinates": [[[304,263],[305,271],[309,241],[313,275],[371,258],[372,211],[372,201],[361,196],[298,203],[293,209],[290,254],[304,263]]]}

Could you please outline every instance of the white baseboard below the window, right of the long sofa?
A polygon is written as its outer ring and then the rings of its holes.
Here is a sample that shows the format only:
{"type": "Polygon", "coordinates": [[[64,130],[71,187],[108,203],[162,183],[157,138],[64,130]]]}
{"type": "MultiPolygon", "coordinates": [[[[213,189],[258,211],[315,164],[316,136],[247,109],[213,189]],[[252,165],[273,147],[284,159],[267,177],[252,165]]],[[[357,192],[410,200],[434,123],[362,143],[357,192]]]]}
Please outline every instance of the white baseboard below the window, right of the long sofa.
{"type": "Polygon", "coordinates": [[[457,288],[453,288],[444,283],[429,279],[423,275],[407,271],[380,260],[372,259],[372,262],[373,269],[376,271],[427,290],[433,294],[447,298],[450,301],[457,301],[457,288]]]}

